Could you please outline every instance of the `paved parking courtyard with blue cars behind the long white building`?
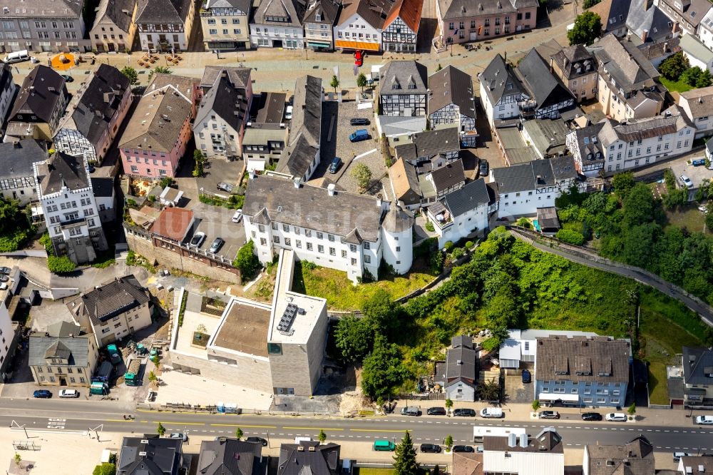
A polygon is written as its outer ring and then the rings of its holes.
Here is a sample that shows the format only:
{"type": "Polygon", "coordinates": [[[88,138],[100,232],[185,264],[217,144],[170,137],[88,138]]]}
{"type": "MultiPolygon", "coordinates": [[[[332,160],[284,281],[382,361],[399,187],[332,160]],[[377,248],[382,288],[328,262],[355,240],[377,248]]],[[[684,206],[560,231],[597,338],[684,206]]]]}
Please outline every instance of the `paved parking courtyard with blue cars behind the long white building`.
{"type": "Polygon", "coordinates": [[[322,106],[322,144],[320,145],[321,162],[317,170],[314,170],[312,180],[318,178],[329,178],[336,181],[345,190],[356,190],[356,184],[351,180],[349,166],[355,157],[364,163],[371,170],[374,179],[379,178],[386,172],[384,160],[379,151],[378,136],[376,136],[376,126],[374,125],[374,109],[357,109],[355,101],[337,103],[327,101],[322,106]],[[368,118],[368,126],[351,126],[349,121],[352,118],[368,118]],[[332,127],[332,134],[329,128],[332,127]],[[349,141],[349,134],[364,128],[369,131],[369,140],[352,143],[349,141]],[[376,139],[376,140],[375,140],[376,139]],[[335,156],[342,158],[342,165],[337,173],[329,173],[329,164],[335,156]]]}

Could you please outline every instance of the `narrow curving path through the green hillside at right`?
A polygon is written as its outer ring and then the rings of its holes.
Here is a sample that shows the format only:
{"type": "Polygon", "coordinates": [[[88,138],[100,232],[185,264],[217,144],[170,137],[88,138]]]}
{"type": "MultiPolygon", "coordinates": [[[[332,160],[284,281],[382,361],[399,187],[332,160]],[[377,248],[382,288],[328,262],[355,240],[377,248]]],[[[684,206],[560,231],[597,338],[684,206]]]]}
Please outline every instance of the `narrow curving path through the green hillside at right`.
{"type": "MultiPolygon", "coordinates": [[[[541,251],[559,255],[567,260],[571,260],[588,267],[594,267],[595,269],[605,270],[606,272],[612,272],[613,274],[629,277],[630,279],[636,280],[644,285],[653,287],[665,295],[682,302],[686,305],[686,307],[696,312],[707,325],[713,327],[713,308],[710,305],[707,305],[699,298],[690,295],[681,287],[678,287],[671,282],[667,282],[657,275],[652,275],[650,272],[640,269],[639,267],[623,265],[619,262],[605,259],[599,255],[588,253],[583,249],[578,249],[575,253],[574,251],[565,250],[562,245],[556,245],[556,247],[542,245],[534,240],[533,236],[528,235],[528,233],[523,233],[523,231],[520,230],[511,229],[510,232],[513,236],[528,242],[528,244],[533,245],[541,251]]],[[[540,236],[538,235],[537,237],[540,236]]]]}

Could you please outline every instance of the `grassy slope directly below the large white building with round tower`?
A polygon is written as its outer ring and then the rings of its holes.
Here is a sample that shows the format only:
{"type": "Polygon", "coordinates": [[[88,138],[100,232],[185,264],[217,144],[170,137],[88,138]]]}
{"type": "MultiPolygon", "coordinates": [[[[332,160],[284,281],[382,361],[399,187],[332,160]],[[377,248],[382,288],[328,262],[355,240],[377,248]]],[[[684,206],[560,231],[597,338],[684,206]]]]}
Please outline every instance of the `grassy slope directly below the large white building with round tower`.
{"type": "Polygon", "coordinates": [[[403,297],[434,280],[434,276],[419,270],[414,265],[407,275],[389,276],[378,282],[354,285],[347,279],[346,272],[316,267],[304,268],[301,263],[294,267],[292,290],[327,299],[327,306],[334,310],[359,310],[361,304],[381,288],[389,292],[391,298],[403,297]]]}

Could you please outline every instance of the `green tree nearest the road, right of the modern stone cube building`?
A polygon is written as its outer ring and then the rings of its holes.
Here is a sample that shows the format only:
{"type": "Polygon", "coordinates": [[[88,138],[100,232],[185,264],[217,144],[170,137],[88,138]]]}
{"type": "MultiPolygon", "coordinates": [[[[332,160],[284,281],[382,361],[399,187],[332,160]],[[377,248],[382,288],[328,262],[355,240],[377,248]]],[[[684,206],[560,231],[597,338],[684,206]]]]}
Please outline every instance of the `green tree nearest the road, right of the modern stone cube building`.
{"type": "Polygon", "coordinates": [[[383,335],[376,334],[374,349],[364,358],[361,367],[361,389],[364,394],[371,399],[389,397],[394,388],[404,382],[407,374],[399,347],[386,342],[383,335]]]}

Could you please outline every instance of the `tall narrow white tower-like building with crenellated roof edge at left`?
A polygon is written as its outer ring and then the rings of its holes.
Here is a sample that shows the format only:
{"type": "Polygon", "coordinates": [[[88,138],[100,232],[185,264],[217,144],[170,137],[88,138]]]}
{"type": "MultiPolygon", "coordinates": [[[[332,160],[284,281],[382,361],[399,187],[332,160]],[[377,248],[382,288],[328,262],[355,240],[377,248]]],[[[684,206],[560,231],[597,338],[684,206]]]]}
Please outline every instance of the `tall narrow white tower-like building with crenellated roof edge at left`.
{"type": "Polygon", "coordinates": [[[34,178],[55,255],[81,264],[108,249],[83,157],[56,152],[34,164],[34,178]]]}

